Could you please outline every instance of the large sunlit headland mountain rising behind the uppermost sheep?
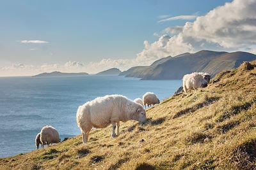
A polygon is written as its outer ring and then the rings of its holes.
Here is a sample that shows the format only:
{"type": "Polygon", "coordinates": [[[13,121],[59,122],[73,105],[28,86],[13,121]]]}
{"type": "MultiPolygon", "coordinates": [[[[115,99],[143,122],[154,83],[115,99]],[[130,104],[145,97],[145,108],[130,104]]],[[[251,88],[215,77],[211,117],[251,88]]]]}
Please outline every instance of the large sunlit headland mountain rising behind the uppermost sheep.
{"type": "Polygon", "coordinates": [[[202,71],[214,77],[221,71],[234,69],[244,61],[255,59],[256,55],[247,52],[228,53],[202,50],[196,53],[183,53],[175,57],[165,57],[150,66],[131,67],[120,75],[142,80],[180,80],[184,74],[202,71]]]}

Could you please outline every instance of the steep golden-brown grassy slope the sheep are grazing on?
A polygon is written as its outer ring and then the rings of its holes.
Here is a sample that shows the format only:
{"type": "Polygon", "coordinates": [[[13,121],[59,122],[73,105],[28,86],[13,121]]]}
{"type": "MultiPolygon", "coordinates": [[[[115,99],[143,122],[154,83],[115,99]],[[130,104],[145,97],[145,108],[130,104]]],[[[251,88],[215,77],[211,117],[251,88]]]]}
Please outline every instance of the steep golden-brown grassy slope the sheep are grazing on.
{"type": "MultiPolygon", "coordinates": [[[[256,62],[252,62],[256,66],[256,62]]],[[[1,169],[253,169],[256,67],[218,74],[206,89],[147,110],[148,124],[121,124],[0,160],[1,169]],[[125,164],[124,164],[125,163],[125,164]]]]}

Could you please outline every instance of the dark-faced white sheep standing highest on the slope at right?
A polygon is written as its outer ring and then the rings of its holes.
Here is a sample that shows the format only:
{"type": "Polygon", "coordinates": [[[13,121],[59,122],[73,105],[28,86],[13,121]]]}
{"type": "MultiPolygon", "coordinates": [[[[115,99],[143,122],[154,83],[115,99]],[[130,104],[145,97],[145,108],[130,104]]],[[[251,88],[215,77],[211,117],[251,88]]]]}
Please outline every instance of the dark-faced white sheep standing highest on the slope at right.
{"type": "Polygon", "coordinates": [[[204,79],[200,73],[191,73],[186,74],[183,77],[183,90],[185,94],[188,93],[188,90],[196,90],[198,88],[207,87],[207,81],[204,79]]]}

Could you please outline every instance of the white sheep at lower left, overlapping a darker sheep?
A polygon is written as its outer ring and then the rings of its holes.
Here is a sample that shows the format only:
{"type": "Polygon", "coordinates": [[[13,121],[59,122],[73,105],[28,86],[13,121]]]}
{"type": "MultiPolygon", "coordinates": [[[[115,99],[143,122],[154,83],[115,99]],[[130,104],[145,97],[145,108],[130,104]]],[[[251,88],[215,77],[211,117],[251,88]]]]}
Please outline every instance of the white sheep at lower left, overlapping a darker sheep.
{"type": "Polygon", "coordinates": [[[54,127],[51,125],[46,125],[40,132],[40,141],[42,142],[42,146],[44,148],[44,145],[46,144],[49,146],[52,143],[59,143],[60,136],[54,127]]]}

